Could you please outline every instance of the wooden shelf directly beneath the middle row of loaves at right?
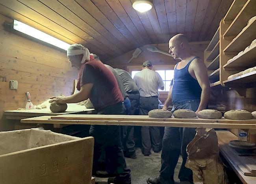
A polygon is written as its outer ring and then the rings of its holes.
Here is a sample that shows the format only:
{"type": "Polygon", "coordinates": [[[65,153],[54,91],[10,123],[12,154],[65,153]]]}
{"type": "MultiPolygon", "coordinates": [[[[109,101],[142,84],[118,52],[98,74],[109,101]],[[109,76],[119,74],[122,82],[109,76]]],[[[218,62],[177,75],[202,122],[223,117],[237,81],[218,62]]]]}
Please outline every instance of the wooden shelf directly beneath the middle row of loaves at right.
{"type": "Polygon", "coordinates": [[[235,60],[223,66],[224,70],[246,68],[247,66],[256,66],[256,44],[250,47],[249,50],[243,52],[235,60]]]}

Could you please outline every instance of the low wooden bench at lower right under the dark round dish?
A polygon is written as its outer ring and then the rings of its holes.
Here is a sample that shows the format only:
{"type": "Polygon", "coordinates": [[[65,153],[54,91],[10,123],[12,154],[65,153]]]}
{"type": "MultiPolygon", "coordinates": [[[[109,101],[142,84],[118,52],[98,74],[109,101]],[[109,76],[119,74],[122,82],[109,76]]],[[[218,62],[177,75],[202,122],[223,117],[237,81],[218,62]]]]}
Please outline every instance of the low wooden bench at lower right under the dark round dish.
{"type": "Polygon", "coordinates": [[[230,131],[216,131],[218,136],[220,153],[224,156],[228,164],[232,167],[236,175],[243,184],[255,184],[256,177],[256,156],[239,156],[228,143],[237,140],[237,136],[230,131]]]}

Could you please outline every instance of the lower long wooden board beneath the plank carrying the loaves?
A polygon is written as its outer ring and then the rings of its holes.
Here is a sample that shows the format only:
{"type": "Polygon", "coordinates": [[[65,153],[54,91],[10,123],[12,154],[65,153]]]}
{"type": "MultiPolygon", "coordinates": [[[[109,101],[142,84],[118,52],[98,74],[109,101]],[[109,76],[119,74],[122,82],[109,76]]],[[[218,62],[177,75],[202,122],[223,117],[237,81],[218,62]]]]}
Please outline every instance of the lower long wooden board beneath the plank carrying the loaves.
{"type": "MultiPolygon", "coordinates": [[[[105,115],[106,116],[106,115],[105,115]]],[[[118,115],[113,115],[118,116],[118,115]]],[[[129,116],[129,115],[126,115],[129,116]]],[[[52,116],[40,116],[21,120],[21,123],[50,123],[50,124],[81,124],[81,125],[132,125],[132,126],[160,126],[160,127],[194,127],[194,128],[241,128],[256,129],[256,120],[254,124],[238,123],[198,123],[182,120],[176,121],[134,121],[134,120],[52,120],[52,116]]],[[[151,118],[150,118],[151,119],[151,118]]],[[[152,118],[154,119],[154,118],[152,118]]],[[[174,120],[173,118],[172,120],[174,120]]],[[[177,119],[177,118],[176,118],[177,119]]]]}

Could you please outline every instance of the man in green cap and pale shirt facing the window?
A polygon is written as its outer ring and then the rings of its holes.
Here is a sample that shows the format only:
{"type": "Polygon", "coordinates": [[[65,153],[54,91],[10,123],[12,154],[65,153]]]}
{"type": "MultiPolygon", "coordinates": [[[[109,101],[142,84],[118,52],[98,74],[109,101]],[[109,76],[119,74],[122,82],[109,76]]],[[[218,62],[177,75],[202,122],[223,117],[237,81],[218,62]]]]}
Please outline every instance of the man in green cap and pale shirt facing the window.
{"type": "MultiPolygon", "coordinates": [[[[164,89],[164,83],[160,75],[152,70],[152,63],[150,61],[145,61],[142,65],[143,70],[136,73],[134,76],[134,81],[139,88],[139,114],[148,115],[148,112],[153,109],[158,109],[158,89],[164,89]]],[[[151,147],[155,153],[160,152],[160,130],[158,127],[141,127],[141,140],[144,156],[149,156],[151,147]],[[150,141],[150,135],[151,140],[150,141]]]]}

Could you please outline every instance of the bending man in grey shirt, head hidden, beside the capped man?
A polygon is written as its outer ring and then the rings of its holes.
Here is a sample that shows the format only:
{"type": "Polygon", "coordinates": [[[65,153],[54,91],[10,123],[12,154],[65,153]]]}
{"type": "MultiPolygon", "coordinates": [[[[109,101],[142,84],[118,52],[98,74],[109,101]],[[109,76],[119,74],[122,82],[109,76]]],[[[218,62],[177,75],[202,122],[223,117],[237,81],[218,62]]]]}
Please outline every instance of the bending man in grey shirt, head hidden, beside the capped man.
{"type": "MultiPolygon", "coordinates": [[[[119,68],[115,68],[115,71],[121,77],[130,101],[130,108],[126,108],[126,114],[135,115],[135,110],[139,105],[139,89],[128,72],[119,68]]],[[[128,158],[136,158],[134,126],[123,126],[123,135],[124,156],[128,158]]]]}

